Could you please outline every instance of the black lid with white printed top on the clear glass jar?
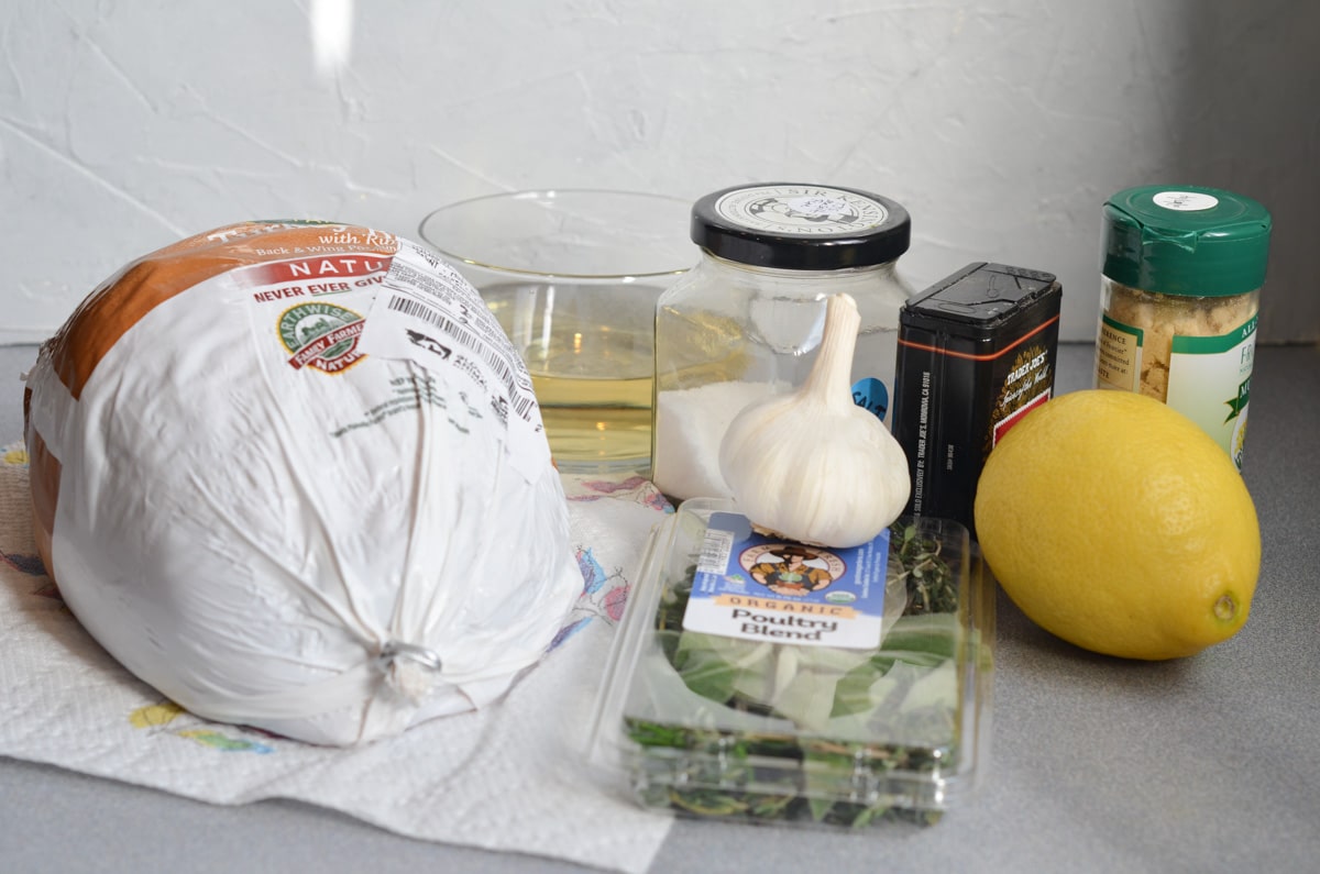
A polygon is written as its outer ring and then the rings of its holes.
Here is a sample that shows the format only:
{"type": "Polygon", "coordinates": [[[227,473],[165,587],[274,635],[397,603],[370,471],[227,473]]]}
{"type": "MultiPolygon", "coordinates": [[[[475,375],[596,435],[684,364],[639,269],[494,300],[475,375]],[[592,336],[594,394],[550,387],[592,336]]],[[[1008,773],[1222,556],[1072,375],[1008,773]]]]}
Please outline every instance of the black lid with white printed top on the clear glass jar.
{"type": "Polygon", "coordinates": [[[738,185],[692,207],[693,243],[752,267],[871,267],[903,255],[911,234],[912,219],[902,205],[832,185],[738,185]]]}

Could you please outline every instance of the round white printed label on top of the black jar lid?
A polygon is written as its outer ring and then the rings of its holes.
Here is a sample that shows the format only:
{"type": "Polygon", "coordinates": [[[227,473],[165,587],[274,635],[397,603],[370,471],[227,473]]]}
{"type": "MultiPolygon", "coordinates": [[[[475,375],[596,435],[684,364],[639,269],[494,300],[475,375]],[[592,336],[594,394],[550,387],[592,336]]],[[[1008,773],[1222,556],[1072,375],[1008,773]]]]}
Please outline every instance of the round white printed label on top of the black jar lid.
{"type": "Polygon", "coordinates": [[[762,185],[715,202],[715,214],[755,231],[814,236],[879,227],[890,218],[869,197],[821,185],[762,185]]]}

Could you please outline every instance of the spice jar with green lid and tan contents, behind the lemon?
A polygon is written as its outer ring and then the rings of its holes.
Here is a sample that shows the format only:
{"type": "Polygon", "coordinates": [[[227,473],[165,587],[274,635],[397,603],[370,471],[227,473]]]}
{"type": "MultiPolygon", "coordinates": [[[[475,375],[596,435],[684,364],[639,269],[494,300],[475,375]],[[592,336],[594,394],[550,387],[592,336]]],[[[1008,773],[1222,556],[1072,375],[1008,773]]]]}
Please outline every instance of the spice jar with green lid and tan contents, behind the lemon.
{"type": "Polygon", "coordinates": [[[1270,213],[1199,186],[1147,185],[1105,203],[1096,386],[1188,416],[1242,469],[1270,213]]]}

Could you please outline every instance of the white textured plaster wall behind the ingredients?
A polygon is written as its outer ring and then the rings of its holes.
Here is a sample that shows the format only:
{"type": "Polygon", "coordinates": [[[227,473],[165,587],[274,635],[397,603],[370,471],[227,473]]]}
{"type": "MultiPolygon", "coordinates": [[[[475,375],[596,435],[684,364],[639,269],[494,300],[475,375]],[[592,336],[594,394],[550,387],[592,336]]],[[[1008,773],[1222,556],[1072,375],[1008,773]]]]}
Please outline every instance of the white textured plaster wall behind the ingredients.
{"type": "Polygon", "coordinates": [[[1320,4],[1261,0],[359,0],[319,78],[308,0],[0,4],[0,342],[124,261],[244,218],[414,235],[521,187],[686,198],[850,185],[913,215],[917,285],[970,260],[1064,281],[1090,339],[1100,205],[1146,182],[1275,213],[1262,335],[1320,337],[1303,253],[1320,4]]]}

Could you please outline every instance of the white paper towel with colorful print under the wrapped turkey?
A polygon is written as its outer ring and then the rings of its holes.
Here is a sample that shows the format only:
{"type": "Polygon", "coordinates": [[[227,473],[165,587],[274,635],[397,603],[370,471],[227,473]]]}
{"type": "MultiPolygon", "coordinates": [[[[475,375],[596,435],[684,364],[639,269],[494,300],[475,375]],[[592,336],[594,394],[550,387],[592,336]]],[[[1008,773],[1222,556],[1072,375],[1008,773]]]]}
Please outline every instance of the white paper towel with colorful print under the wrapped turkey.
{"type": "Polygon", "coordinates": [[[59,601],[32,540],[26,457],[0,449],[0,754],[215,804],[296,799],[409,837],[640,873],[667,816],[585,766],[587,720],[645,536],[647,481],[565,477],[583,594],[546,657],[495,706],[331,750],[181,712],[59,601]]]}

